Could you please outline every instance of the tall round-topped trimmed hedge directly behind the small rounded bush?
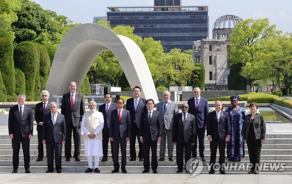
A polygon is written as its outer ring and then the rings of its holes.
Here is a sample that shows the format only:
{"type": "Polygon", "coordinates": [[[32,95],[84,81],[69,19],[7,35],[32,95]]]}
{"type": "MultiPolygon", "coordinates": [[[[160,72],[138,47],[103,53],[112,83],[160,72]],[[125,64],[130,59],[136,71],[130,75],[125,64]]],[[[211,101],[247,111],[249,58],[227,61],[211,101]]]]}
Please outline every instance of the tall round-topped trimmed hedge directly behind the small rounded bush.
{"type": "MultiPolygon", "coordinates": [[[[15,68],[19,68],[25,75],[26,100],[34,101],[36,75],[39,75],[39,55],[36,44],[33,42],[20,42],[13,53],[15,68]]],[[[38,76],[39,78],[39,76],[38,76]]],[[[38,87],[38,86],[37,86],[38,87]]],[[[36,90],[38,91],[38,90],[36,90]]],[[[39,97],[39,93],[37,94],[39,97]]]]}

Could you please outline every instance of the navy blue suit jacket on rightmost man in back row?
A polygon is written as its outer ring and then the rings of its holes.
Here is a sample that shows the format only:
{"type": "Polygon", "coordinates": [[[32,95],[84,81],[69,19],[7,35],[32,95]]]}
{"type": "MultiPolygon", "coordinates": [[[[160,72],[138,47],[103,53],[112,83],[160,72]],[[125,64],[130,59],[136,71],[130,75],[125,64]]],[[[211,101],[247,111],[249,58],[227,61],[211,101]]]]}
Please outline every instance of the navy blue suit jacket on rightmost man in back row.
{"type": "Polygon", "coordinates": [[[196,116],[198,128],[204,128],[204,126],[207,123],[209,114],[208,100],[201,97],[198,110],[196,108],[195,101],[196,100],[194,97],[187,100],[187,104],[189,105],[188,113],[191,113],[192,115],[196,116]]]}

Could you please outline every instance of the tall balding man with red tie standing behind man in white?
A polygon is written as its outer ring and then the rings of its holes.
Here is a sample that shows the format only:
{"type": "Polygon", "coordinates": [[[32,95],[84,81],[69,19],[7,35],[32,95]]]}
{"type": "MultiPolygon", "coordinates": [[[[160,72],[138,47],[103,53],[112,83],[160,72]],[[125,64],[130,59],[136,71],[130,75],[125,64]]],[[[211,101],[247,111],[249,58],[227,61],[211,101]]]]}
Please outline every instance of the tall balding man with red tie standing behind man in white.
{"type": "Polygon", "coordinates": [[[62,97],[61,114],[65,116],[66,120],[66,144],[65,157],[66,161],[71,158],[71,138],[73,131],[74,139],[74,154],[75,161],[80,161],[81,152],[81,123],[82,117],[85,113],[84,96],[76,92],[76,82],[72,81],[69,84],[70,92],[62,97]]]}

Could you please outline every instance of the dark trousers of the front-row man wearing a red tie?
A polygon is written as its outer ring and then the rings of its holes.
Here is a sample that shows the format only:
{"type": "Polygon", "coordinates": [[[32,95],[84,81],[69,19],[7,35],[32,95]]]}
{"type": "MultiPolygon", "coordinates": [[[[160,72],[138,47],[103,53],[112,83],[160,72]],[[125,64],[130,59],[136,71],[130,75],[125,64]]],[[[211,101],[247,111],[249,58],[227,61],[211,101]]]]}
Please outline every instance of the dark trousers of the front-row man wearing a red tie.
{"type": "Polygon", "coordinates": [[[126,139],[122,139],[121,135],[119,134],[118,138],[114,138],[114,168],[119,169],[119,147],[121,146],[121,169],[126,169],[126,159],[127,159],[127,153],[126,153],[126,147],[127,147],[127,141],[126,139]]]}

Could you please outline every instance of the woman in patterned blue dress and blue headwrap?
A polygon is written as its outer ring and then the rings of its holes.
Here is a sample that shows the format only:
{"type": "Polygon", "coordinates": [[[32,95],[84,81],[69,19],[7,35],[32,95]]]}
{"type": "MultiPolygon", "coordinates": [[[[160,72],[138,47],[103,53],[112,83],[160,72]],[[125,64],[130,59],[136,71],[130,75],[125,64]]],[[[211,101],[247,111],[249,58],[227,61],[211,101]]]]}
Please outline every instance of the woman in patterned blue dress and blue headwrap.
{"type": "Polygon", "coordinates": [[[229,113],[230,117],[230,140],[227,141],[227,157],[229,161],[241,161],[244,157],[244,145],[241,135],[243,121],[246,116],[244,108],[237,106],[240,97],[237,95],[230,97],[231,107],[225,111],[229,113]]]}

